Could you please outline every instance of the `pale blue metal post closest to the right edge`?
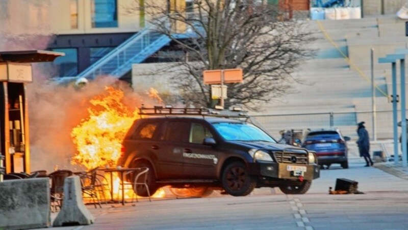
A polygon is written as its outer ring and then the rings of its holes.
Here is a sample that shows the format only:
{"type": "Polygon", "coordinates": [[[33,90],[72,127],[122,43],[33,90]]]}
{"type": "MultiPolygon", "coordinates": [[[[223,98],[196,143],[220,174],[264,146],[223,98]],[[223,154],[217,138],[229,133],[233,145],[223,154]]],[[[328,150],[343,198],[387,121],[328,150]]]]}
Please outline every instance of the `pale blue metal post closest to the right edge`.
{"type": "Polygon", "coordinates": [[[405,114],[405,59],[401,59],[401,145],[402,145],[402,167],[407,166],[407,146],[406,146],[406,114],[405,114]]]}

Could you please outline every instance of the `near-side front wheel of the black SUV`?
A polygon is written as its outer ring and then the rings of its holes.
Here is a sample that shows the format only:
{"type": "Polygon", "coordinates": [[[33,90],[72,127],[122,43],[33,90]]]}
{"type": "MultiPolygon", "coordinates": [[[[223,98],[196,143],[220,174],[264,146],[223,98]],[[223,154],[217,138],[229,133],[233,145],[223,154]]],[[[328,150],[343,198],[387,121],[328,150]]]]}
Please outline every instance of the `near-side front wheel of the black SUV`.
{"type": "Polygon", "coordinates": [[[246,196],[256,186],[245,164],[239,161],[228,164],[221,176],[222,187],[225,192],[233,196],[246,196]]]}

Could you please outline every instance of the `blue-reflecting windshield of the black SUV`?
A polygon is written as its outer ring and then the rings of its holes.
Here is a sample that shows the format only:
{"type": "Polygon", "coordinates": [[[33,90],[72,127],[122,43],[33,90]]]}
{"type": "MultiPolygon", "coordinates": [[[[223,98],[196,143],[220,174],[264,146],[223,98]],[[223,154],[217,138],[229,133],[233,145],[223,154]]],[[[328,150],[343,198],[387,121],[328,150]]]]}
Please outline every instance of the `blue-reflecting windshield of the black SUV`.
{"type": "Polygon", "coordinates": [[[276,141],[260,128],[247,123],[214,123],[214,128],[226,140],[262,140],[276,143],[276,141]]]}

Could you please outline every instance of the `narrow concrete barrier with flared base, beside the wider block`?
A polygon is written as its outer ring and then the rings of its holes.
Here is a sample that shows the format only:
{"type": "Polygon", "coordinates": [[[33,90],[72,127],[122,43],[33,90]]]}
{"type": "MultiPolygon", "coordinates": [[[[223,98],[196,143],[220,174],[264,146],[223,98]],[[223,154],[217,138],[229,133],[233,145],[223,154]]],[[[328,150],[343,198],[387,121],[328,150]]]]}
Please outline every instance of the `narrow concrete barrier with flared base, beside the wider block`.
{"type": "Polygon", "coordinates": [[[81,182],[78,176],[65,178],[64,202],[53,226],[88,225],[94,218],[82,201],[81,182]]]}

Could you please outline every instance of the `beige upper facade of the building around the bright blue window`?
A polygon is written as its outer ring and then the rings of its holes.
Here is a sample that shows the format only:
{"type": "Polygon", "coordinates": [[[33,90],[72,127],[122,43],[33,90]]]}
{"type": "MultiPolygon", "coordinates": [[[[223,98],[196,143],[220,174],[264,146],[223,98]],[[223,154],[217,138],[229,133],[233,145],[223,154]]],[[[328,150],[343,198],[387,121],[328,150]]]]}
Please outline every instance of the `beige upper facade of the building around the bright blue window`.
{"type": "Polygon", "coordinates": [[[140,30],[139,15],[127,14],[133,0],[117,0],[118,27],[92,28],[92,1],[77,0],[78,28],[71,28],[71,0],[4,0],[2,26],[20,33],[99,34],[140,30]]]}

